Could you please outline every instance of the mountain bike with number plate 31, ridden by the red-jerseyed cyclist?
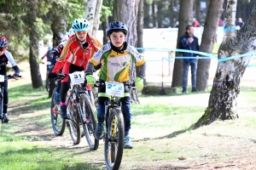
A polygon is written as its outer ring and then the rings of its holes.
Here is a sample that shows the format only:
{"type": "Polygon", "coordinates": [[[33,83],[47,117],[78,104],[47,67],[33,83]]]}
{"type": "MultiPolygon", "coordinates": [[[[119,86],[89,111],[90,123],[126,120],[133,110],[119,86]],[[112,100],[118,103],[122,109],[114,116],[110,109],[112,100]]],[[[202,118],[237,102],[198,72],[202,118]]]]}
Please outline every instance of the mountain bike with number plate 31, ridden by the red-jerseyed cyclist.
{"type": "Polygon", "coordinates": [[[67,127],[73,144],[79,144],[80,126],[91,150],[98,149],[99,140],[95,139],[96,117],[91,104],[88,89],[84,86],[84,71],[68,74],[71,87],[67,92],[67,127]]]}

